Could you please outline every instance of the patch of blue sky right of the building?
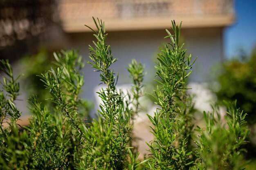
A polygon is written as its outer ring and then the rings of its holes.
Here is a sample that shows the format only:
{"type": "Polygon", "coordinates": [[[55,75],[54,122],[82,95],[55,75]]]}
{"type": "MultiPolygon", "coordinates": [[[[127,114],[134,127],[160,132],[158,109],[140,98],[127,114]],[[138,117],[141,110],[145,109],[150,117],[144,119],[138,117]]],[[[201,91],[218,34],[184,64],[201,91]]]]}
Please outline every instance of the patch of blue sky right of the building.
{"type": "Polygon", "coordinates": [[[256,46],[256,0],[234,0],[236,21],[224,31],[224,53],[231,58],[242,48],[247,55],[256,46]]]}

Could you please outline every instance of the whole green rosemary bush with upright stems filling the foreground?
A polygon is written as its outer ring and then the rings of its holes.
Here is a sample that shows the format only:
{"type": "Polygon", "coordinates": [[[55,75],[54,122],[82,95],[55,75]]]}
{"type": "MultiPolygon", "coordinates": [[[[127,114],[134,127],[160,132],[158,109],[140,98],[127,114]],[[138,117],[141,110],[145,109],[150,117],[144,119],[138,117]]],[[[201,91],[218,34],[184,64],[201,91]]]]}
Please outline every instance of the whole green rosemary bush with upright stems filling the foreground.
{"type": "MultiPolygon", "coordinates": [[[[30,124],[23,131],[16,121],[21,113],[14,102],[19,94],[17,78],[13,78],[8,61],[1,60],[5,73],[3,91],[0,92],[0,169],[4,170],[189,170],[243,168],[243,152],[247,130],[243,112],[236,105],[227,104],[227,123],[220,122],[220,114],[204,113],[207,128],[195,128],[192,124],[193,102],[186,92],[186,79],[192,73],[191,55],[178,46],[180,26],[173,22],[168,30],[167,44],[157,57],[155,103],[159,109],[152,122],[153,141],[148,144],[151,154],[139,160],[139,153],[132,140],[132,125],[139,112],[139,97],[144,67],[135,60],[128,71],[134,86],[124,100],[124,93],[117,90],[118,75],[110,68],[117,61],[106,44],[107,34],[101,20],[94,20],[97,39],[89,46],[88,62],[99,72],[101,88],[98,119],[85,123],[79,92],[83,86],[80,69],[81,57],[75,51],[54,54],[57,68],[40,75],[49,90],[54,108],[43,106],[36,96],[28,99],[33,114],[30,124]],[[9,126],[3,127],[4,121],[9,126]],[[224,124],[224,125],[223,125],[224,124]],[[197,131],[196,131],[197,130],[197,131]],[[241,163],[242,162],[242,163],[241,163]]],[[[88,26],[89,27],[89,26],[88,26]]],[[[90,28],[90,27],[89,27],[90,28]]]]}

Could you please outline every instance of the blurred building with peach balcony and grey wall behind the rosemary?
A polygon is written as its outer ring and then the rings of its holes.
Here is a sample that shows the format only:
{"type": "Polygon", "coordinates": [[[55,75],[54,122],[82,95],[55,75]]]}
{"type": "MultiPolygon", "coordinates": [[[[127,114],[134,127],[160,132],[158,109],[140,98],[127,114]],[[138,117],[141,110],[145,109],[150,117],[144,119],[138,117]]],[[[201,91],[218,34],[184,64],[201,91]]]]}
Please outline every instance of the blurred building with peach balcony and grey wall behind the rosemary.
{"type": "MultiPolygon", "coordinates": [[[[120,76],[122,83],[129,83],[125,66],[132,58],[146,64],[146,79],[153,79],[152,60],[159,52],[158,46],[169,41],[164,37],[171,20],[177,24],[182,21],[181,39],[188,55],[198,57],[191,81],[204,82],[212,64],[223,59],[222,32],[235,19],[233,0],[60,0],[58,10],[66,35],[60,42],[68,48],[79,48],[85,57],[88,44],[95,39],[84,24],[94,27],[92,16],[105,22],[107,42],[119,59],[114,69],[124,75],[120,76]]],[[[85,82],[85,94],[92,96],[90,89],[99,79],[90,66],[85,73],[85,79],[90,77],[85,82]]]]}

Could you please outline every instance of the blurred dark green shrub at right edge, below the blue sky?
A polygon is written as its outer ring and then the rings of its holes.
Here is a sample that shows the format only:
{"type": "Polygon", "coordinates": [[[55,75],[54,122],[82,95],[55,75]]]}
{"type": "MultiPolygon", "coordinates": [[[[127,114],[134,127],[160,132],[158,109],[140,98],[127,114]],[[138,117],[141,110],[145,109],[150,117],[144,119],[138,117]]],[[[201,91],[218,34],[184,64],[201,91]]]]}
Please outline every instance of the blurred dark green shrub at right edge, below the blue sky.
{"type": "Polygon", "coordinates": [[[217,80],[220,89],[216,92],[218,100],[237,100],[238,107],[248,113],[249,124],[256,123],[256,53],[247,61],[237,59],[227,61],[217,80]]]}

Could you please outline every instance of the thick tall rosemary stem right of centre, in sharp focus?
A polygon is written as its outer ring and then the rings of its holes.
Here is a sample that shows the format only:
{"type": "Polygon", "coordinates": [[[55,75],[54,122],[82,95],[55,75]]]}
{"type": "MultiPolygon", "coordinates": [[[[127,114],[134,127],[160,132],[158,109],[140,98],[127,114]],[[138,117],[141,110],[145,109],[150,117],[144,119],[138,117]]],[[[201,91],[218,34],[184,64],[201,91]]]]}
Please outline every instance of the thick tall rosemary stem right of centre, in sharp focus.
{"type": "Polygon", "coordinates": [[[186,109],[190,106],[181,110],[175,104],[175,99],[182,100],[180,96],[184,93],[186,78],[192,73],[189,70],[193,63],[191,64],[191,55],[186,57],[186,50],[179,46],[181,24],[180,27],[176,26],[175,22],[172,24],[174,35],[166,29],[168,35],[165,38],[170,38],[173,44],[166,44],[164,49],[160,48],[162,53],[158,54],[158,63],[155,66],[157,76],[161,79],[155,81],[161,87],[157,86],[153,97],[161,108],[155,112],[154,117],[148,115],[155,126],[152,128],[155,138],[151,145],[148,144],[152,152],[150,169],[189,169],[189,165],[193,163],[189,158],[192,151],[188,150],[187,146],[187,135],[192,135],[192,132],[185,134],[187,127],[191,126],[185,118],[189,114],[186,109]]]}

